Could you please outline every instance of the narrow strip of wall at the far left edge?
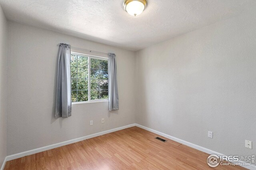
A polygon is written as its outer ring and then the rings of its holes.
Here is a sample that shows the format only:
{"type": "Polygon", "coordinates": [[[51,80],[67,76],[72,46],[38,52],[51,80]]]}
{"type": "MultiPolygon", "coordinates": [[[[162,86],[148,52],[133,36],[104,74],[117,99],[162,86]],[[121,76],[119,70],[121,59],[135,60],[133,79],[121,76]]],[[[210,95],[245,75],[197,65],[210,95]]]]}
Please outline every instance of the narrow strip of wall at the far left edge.
{"type": "Polygon", "coordinates": [[[0,167],[6,156],[7,21],[0,5],[0,167]]]}

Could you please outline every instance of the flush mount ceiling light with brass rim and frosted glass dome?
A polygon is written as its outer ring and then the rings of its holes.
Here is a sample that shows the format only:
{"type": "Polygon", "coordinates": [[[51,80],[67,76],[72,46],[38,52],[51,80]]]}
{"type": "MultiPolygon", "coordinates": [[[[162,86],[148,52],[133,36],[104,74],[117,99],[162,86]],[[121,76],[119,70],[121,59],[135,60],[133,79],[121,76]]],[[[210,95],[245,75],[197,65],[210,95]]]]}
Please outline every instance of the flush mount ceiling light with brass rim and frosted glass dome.
{"type": "Polygon", "coordinates": [[[124,10],[132,16],[140,15],[146,6],[146,0],[124,0],[124,10]]]}

